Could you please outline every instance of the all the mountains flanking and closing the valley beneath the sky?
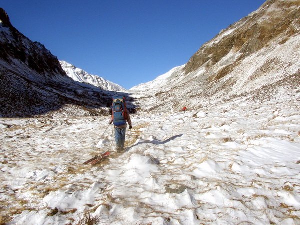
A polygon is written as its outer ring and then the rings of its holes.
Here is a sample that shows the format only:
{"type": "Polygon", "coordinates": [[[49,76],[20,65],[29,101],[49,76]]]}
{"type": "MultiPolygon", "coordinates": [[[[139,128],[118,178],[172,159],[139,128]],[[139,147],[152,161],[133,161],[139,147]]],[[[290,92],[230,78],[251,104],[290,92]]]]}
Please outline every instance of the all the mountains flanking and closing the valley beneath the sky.
{"type": "Polygon", "coordinates": [[[203,44],[186,64],[126,93],[59,62],[0,9],[0,116],[99,115],[107,113],[115,91],[130,95],[145,112],[198,110],[229,101],[300,101],[298,18],[298,0],[267,0],[203,44]]]}

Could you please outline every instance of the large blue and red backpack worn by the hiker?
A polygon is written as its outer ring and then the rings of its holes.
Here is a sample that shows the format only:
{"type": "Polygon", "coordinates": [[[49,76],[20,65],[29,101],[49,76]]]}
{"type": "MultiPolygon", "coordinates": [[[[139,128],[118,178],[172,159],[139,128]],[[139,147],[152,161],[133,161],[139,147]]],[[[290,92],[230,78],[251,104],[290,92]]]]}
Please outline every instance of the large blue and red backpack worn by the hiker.
{"type": "Polygon", "coordinates": [[[125,97],[117,96],[112,98],[112,119],[113,125],[122,126],[127,123],[127,108],[125,97]]]}

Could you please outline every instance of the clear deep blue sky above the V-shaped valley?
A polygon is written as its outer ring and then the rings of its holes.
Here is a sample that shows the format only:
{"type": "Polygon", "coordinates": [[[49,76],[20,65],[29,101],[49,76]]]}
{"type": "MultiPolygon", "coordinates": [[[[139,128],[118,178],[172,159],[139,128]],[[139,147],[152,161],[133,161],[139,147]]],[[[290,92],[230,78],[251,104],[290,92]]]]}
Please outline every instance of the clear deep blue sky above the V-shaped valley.
{"type": "Polygon", "coordinates": [[[185,64],[265,0],[1,0],[59,60],[129,89],[185,64]]]}

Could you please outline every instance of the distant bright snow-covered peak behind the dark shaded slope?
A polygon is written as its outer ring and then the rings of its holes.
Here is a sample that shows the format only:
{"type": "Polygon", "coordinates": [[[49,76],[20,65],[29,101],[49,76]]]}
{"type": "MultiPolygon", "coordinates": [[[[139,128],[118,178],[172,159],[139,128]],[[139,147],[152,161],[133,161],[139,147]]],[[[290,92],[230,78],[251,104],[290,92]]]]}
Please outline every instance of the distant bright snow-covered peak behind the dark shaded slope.
{"type": "Polygon", "coordinates": [[[77,68],[76,66],[66,62],[66,61],[59,61],[62,69],[66,72],[66,74],[71,77],[73,80],[78,82],[85,82],[96,87],[99,87],[103,90],[109,91],[124,91],[125,88],[121,87],[120,85],[108,81],[102,77],[97,75],[91,75],[84,71],[83,69],[77,68]]]}

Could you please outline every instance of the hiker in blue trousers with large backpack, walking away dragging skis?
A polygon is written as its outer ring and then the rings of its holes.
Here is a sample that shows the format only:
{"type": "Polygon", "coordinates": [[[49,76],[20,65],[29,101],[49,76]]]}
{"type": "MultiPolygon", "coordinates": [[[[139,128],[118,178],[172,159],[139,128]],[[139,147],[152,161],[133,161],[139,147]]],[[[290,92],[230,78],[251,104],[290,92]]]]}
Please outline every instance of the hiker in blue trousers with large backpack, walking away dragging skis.
{"type": "Polygon", "coordinates": [[[127,122],[129,129],[132,129],[132,123],[126,107],[125,97],[113,97],[112,100],[112,113],[109,123],[112,124],[113,122],[116,151],[120,152],[124,150],[127,122]]]}

